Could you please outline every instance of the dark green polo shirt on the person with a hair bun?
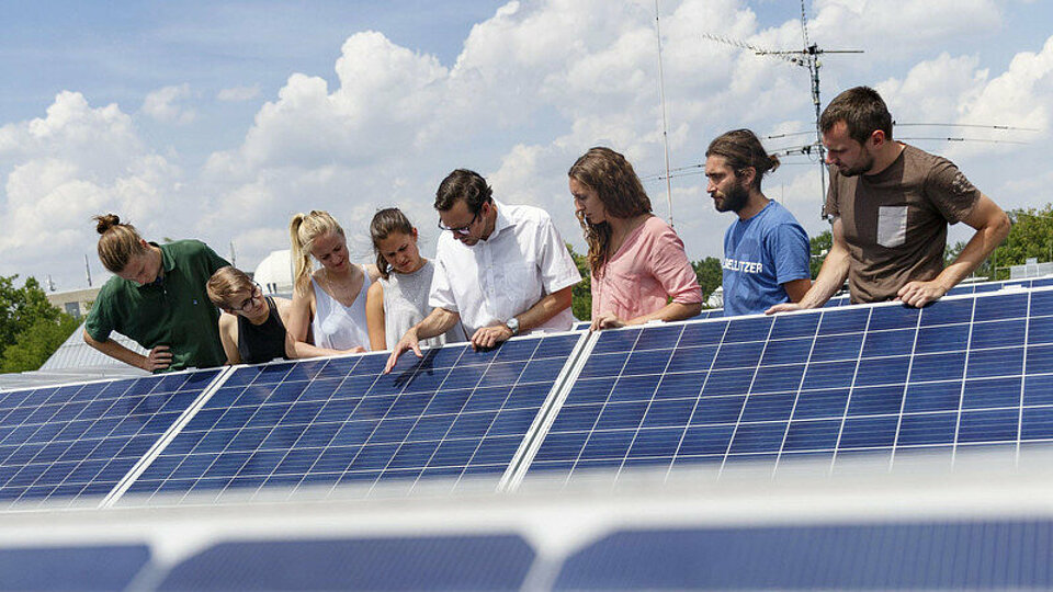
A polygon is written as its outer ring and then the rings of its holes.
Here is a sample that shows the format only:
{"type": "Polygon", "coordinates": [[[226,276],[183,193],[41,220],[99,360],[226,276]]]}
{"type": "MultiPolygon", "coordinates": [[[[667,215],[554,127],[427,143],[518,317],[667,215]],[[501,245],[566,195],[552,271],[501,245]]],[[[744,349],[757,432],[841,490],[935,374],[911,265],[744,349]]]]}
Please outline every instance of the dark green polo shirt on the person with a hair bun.
{"type": "Polygon", "coordinates": [[[116,331],[147,350],[168,345],[170,371],[222,366],[227,356],[219,342],[219,310],[208,299],[205,283],[229,263],[197,240],[150,244],[161,249],[163,278],[140,286],[111,277],[99,291],[84,329],[95,341],[106,341],[116,331]]]}

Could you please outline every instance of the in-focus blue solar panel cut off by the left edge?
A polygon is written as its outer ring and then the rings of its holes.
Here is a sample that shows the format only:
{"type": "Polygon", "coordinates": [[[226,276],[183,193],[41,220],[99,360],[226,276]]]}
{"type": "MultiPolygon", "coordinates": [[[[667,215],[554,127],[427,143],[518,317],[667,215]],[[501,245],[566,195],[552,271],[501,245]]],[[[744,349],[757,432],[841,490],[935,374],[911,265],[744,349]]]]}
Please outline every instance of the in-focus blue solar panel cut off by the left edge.
{"type": "Polygon", "coordinates": [[[218,374],[0,392],[0,504],[101,500],[218,374]]]}

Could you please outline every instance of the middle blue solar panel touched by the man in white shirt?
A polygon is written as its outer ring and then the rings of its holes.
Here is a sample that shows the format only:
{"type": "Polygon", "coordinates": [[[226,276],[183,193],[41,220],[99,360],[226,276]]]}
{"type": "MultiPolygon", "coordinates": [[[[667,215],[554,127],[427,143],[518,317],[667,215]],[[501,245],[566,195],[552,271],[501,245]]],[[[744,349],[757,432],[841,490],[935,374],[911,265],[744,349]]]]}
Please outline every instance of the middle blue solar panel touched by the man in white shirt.
{"type": "Polygon", "coordinates": [[[128,493],[500,477],[581,339],[238,367],[128,493]]]}

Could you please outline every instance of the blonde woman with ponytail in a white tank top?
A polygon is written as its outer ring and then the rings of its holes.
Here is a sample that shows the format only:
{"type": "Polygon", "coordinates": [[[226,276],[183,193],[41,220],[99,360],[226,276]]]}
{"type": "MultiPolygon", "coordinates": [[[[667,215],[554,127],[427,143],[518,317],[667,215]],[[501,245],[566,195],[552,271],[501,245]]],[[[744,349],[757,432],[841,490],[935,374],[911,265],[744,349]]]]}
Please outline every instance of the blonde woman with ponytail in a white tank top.
{"type": "Polygon", "coordinates": [[[293,216],[288,232],[295,269],[287,329],[294,344],[308,344],[309,331],[317,348],[366,351],[365,299],[376,267],[351,262],[343,228],[327,212],[293,216]],[[314,272],[312,258],[321,264],[314,272]]]}

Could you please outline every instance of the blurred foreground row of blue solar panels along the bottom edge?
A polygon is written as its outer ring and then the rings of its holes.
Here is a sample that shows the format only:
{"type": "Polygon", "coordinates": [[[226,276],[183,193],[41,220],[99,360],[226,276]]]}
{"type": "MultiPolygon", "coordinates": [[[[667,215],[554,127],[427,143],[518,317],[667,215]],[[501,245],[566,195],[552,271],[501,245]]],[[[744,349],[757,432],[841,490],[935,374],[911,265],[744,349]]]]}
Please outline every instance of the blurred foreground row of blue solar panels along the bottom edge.
{"type": "Polygon", "coordinates": [[[566,556],[514,533],[235,539],[174,566],[80,544],[0,549],[0,590],[1049,590],[1051,542],[1048,519],[871,519],[621,528],[566,556]]]}

